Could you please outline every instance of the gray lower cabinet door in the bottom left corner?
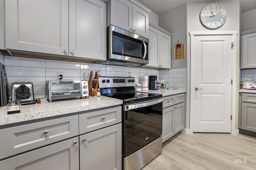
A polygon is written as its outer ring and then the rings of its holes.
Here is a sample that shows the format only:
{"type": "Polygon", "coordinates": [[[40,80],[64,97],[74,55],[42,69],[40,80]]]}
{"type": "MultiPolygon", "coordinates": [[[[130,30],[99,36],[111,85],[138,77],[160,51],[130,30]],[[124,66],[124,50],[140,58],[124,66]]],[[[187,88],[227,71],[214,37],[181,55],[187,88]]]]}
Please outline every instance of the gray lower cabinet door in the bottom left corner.
{"type": "Polygon", "coordinates": [[[79,170],[78,137],[0,161],[2,170],[79,170]]]}

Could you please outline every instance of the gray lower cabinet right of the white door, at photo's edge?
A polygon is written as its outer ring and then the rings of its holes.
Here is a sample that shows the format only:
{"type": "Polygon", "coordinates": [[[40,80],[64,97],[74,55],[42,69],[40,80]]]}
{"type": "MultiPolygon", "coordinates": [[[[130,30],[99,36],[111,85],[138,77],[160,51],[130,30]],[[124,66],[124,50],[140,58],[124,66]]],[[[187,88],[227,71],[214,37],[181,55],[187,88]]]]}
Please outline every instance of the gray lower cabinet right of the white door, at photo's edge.
{"type": "Polygon", "coordinates": [[[242,93],[241,129],[256,132],[256,94],[242,93]]]}

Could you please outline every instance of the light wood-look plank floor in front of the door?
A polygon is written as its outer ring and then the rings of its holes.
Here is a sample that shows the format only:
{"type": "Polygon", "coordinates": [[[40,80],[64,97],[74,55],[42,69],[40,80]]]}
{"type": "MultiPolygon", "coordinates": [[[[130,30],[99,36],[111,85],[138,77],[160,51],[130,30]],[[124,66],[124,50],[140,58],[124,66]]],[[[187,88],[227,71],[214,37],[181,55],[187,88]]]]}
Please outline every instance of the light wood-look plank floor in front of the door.
{"type": "Polygon", "coordinates": [[[142,170],[256,170],[256,137],[178,133],[163,144],[162,153],[142,170]],[[238,160],[239,156],[247,157],[238,160]]]}

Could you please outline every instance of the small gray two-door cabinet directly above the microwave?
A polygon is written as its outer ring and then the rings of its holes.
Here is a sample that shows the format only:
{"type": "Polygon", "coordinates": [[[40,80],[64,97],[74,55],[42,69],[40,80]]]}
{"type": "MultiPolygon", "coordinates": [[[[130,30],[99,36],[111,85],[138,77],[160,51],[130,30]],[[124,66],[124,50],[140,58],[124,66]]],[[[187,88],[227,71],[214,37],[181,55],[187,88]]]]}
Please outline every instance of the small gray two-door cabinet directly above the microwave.
{"type": "Polygon", "coordinates": [[[148,38],[148,8],[136,0],[108,0],[108,10],[108,25],[148,38]]]}

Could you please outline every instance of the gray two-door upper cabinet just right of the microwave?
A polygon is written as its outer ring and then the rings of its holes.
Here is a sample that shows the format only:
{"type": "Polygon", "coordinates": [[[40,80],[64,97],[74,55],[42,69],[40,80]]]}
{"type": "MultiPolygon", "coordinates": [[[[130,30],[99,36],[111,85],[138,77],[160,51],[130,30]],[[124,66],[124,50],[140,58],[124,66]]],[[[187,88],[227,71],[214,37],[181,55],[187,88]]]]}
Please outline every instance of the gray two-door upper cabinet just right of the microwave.
{"type": "Polygon", "coordinates": [[[146,66],[171,68],[171,36],[168,31],[149,22],[149,63],[146,66]]]}

